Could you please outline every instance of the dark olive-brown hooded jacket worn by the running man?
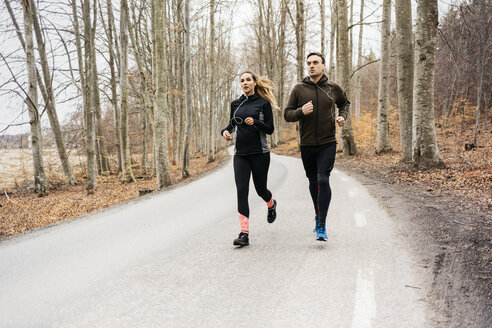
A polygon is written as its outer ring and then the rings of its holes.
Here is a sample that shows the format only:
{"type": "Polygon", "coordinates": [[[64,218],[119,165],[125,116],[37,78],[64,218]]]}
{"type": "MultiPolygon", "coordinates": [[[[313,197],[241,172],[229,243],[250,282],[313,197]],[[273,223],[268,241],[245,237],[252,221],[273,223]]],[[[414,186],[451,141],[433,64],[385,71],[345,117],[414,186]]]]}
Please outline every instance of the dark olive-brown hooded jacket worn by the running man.
{"type": "Polygon", "coordinates": [[[284,111],[287,122],[299,121],[301,146],[318,146],[335,141],[335,105],[338,107],[338,116],[347,120],[350,101],[342,88],[328,81],[323,74],[318,83],[305,77],[296,84],[289,97],[284,111]],[[313,112],[308,115],[302,113],[302,106],[313,101],[313,112]]]}

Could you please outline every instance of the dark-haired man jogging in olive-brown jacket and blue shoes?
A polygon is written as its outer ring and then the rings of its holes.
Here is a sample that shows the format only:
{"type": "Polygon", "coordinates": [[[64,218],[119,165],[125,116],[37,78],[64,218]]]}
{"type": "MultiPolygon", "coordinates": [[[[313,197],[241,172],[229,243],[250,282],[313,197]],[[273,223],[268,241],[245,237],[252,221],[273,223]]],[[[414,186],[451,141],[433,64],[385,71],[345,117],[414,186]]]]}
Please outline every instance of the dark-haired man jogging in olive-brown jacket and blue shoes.
{"type": "Polygon", "coordinates": [[[326,215],[331,201],[330,172],[335,163],[336,128],[344,126],[349,105],[339,85],[329,82],[325,58],[318,52],[307,56],[309,76],[296,84],[284,111],[287,122],[299,121],[301,158],[313,199],[316,239],[326,241],[326,215]],[[335,105],[338,116],[335,118],[335,105]]]}

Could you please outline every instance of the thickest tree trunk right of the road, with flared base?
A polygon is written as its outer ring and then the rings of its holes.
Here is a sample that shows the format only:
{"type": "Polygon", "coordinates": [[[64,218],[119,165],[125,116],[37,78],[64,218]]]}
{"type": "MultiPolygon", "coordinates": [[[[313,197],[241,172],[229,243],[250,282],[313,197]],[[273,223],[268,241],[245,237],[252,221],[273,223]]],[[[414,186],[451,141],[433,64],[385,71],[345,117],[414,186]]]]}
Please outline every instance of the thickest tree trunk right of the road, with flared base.
{"type": "Polygon", "coordinates": [[[437,0],[417,1],[413,94],[412,160],[417,167],[444,167],[434,119],[434,57],[438,24],[437,0]]]}

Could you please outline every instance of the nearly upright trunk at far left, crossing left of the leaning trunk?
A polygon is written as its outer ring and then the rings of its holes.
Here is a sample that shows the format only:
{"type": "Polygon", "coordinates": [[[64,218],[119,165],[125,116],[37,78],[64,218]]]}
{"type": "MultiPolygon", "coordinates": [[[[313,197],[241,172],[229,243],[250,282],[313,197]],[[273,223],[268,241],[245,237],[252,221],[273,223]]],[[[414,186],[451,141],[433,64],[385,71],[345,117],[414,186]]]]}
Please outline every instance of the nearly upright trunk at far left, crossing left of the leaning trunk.
{"type": "Polygon", "coordinates": [[[45,196],[48,191],[46,175],[43,166],[43,152],[41,150],[41,122],[38,112],[38,88],[36,83],[36,60],[34,57],[33,40],[33,12],[32,2],[22,0],[24,13],[24,34],[26,36],[26,68],[27,68],[27,98],[25,100],[29,111],[31,125],[31,150],[34,168],[34,192],[39,196],[45,196]]]}

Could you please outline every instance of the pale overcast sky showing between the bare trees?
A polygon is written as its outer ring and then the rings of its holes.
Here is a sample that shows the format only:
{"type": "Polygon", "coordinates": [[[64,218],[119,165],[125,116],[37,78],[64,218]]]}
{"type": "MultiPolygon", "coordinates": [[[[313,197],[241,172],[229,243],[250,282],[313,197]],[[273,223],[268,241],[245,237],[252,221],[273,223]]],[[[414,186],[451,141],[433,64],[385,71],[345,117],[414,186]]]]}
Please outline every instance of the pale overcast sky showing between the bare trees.
{"type": "MultiPolygon", "coordinates": [[[[443,16],[445,12],[447,12],[450,8],[450,5],[455,3],[455,0],[439,0],[439,11],[440,11],[440,17],[443,16]]],[[[196,4],[195,2],[192,2],[193,4],[196,4]]],[[[327,3],[327,8],[326,8],[326,26],[329,29],[330,23],[329,23],[329,15],[330,15],[330,10],[329,10],[329,1],[326,0],[327,3]]],[[[381,20],[381,3],[382,0],[366,0],[365,1],[365,9],[364,9],[364,16],[367,16],[371,13],[373,13],[372,16],[367,17],[365,22],[378,22],[381,20]]],[[[415,19],[416,16],[416,2],[415,0],[412,1],[412,6],[413,6],[413,17],[415,19]]],[[[307,15],[309,19],[309,24],[307,25],[307,45],[306,45],[306,51],[319,51],[320,50],[320,41],[319,41],[319,32],[320,32],[320,24],[319,24],[319,5],[317,0],[308,0],[306,1],[306,7],[307,7],[307,15]]],[[[360,7],[360,1],[355,0],[354,2],[354,23],[359,20],[359,7],[360,7]]],[[[294,8],[293,8],[294,9],[294,8]]],[[[251,35],[250,29],[251,29],[251,23],[253,20],[253,11],[251,10],[251,5],[249,4],[248,1],[238,1],[236,6],[234,7],[233,10],[224,10],[222,13],[222,16],[226,20],[231,20],[233,24],[233,43],[238,49],[236,53],[238,53],[240,50],[240,46],[243,42],[247,41],[247,37],[251,35]]],[[[395,21],[394,21],[394,11],[392,12],[392,26],[394,27],[395,21]]],[[[19,16],[18,21],[20,24],[22,24],[22,17],[19,16]]],[[[57,24],[59,23],[59,18],[56,16],[51,17],[53,21],[56,21],[57,24]]],[[[19,47],[19,41],[16,37],[16,35],[13,32],[10,33],[5,33],[4,31],[6,29],[12,29],[12,25],[10,24],[10,18],[8,16],[8,13],[6,12],[5,4],[2,1],[0,4],[0,53],[4,56],[8,55],[11,53],[13,50],[17,49],[19,47]]],[[[369,53],[369,51],[373,51],[376,54],[379,54],[379,48],[380,48],[380,24],[372,24],[372,25],[364,25],[364,41],[363,41],[363,54],[366,55],[369,53]]],[[[359,29],[358,27],[354,28],[354,47],[356,46],[356,42],[358,39],[358,33],[359,29]]],[[[327,33],[328,34],[328,33],[327,33]]],[[[327,35],[328,38],[328,35],[327,35]]],[[[329,39],[328,39],[329,40],[329,39]]],[[[329,44],[327,43],[327,46],[329,44]]],[[[238,55],[240,55],[238,53],[238,55]]],[[[23,62],[23,53],[19,53],[19,64],[21,65],[23,62]]],[[[354,49],[354,58],[357,56],[357,49],[354,49]]],[[[326,56],[328,57],[328,56],[326,56]]],[[[61,59],[63,57],[59,57],[58,60],[63,60],[61,59]]],[[[73,59],[72,59],[73,60],[73,59]]],[[[66,61],[66,60],[65,60],[66,61]]],[[[104,65],[104,61],[101,61],[101,64],[99,66],[104,65]]],[[[12,63],[12,66],[15,68],[15,63],[12,63]]],[[[9,80],[11,78],[11,74],[9,70],[7,69],[6,65],[4,64],[3,60],[0,58],[0,85],[5,83],[5,81],[9,80]]],[[[59,78],[63,78],[59,76],[59,78]]],[[[23,82],[23,81],[20,81],[23,82]]],[[[10,87],[12,84],[9,85],[10,87]]],[[[2,87],[3,89],[1,91],[4,91],[5,88],[2,87]]],[[[239,88],[239,87],[238,87],[239,88]]],[[[73,91],[71,91],[73,93],[73,91]]],[[[64,95],[65,98],[69,98],[70,95],[64,95]]],[[[41,98],[41,97],[40,97],[41,98]]],[[[77,102],[75,101],[70,101],[67,103],[57,103],[57,111],[59,113],[59,119],[60,121],[66,122],[66,120],[69,118],[70,113],[73,112],[74,108],[78,105],[77,102]]],[[[0,94],[0,131],[3,130],[8,124],[14,123],[22,123],[22,122],[28,122],[29,121],[29,116],[27,112],[25,111],[25,104],[23,103],[21,97],[19,95],[9,93],[8,95],[5,94],[5,92],[2,92],[0,94]],[[24,113],[22,114],[22,111],[24,110],[24,113]]],[[[46,116],[46,115],[44,115],[46,116]]],[[[42,121],[43,127],[48,127],[48,122],[47,118],[43,117],[42,121]]],[[[7,131],[3,132],[3,134],[15,134],[15,133],[20,133],[23,131],[29,131],[29,125],[22,125],[18,127],[11,127],[7,131]]]]}

